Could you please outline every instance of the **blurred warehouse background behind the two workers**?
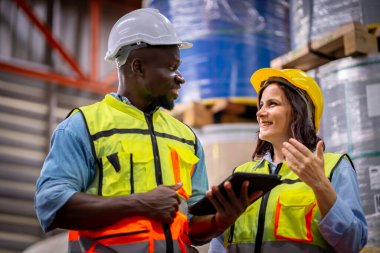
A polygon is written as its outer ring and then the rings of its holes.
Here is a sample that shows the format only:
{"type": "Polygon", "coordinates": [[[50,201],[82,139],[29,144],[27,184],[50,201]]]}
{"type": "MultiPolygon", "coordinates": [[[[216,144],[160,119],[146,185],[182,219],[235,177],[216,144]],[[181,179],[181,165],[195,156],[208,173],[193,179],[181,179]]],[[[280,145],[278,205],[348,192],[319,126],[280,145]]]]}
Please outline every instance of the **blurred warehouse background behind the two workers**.
{"type": "Polygon", "coordinates": [[[57,124],[116,91],[115,66],[104,60],[108,34],[143,7],[159,9],[194,45],[181,51],[186,83],[171,113],[200,138],[209,184],[251,159],[252,73],[302,69],[325,97],[327,150],[356,166],[369,225],[363,252],[380,252],[379,1],[1,0],[0,253],[67,252],[65,231],[40,228],[36,179],[57,124]]]}

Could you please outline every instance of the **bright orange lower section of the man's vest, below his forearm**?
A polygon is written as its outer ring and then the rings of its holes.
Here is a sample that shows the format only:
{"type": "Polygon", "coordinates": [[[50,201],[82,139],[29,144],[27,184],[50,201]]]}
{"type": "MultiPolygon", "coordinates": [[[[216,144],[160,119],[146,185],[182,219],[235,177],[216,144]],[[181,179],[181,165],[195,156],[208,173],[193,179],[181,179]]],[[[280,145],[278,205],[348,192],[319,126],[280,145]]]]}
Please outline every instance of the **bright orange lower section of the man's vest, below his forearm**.
{"type": "MultiPolygon", "coordinates": [[[[178,212],[170,225],[173,252],[191,248],[187,217],[178,212]]],[[[162,225],[145,217],[123,219],[112,226],[92,231],[69,231],[70,253],[166,252],[162,225]]]]}

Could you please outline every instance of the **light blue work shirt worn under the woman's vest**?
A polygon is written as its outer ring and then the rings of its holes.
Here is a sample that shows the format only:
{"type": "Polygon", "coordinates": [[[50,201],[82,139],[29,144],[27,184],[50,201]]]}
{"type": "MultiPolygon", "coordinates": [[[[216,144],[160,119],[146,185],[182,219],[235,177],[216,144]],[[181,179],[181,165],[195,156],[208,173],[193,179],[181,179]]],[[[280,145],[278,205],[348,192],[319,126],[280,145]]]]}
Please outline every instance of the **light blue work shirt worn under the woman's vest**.
{"type": "MultiPolygon", "coordinates": [[[[277,164],[265,155],[272,173],[277,164]]],[[[319,231],[336,252],[357,253],[367,243],[367,221],[360,202],[355,170],[347,159],[335,168],[331,184],[337,198],[328,213],[319,222],[319,231]]],[[[209,253],[224,253],[223,235],[211,240],[209,253]]]]}

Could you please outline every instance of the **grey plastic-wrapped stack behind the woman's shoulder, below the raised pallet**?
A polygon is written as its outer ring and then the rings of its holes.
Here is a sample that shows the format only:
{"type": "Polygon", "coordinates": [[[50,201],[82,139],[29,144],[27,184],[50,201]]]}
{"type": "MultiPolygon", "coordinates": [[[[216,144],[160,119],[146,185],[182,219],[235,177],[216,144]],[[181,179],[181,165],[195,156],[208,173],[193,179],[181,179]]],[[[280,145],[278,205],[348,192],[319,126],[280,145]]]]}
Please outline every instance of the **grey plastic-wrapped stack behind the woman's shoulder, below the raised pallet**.
{"type": "Polygon", "coordinates": [[[369,223],[366,247],[380,250],[380,54],[343,58],[315,72],[325,98],[326,149],[352,158],[369,223]]]}

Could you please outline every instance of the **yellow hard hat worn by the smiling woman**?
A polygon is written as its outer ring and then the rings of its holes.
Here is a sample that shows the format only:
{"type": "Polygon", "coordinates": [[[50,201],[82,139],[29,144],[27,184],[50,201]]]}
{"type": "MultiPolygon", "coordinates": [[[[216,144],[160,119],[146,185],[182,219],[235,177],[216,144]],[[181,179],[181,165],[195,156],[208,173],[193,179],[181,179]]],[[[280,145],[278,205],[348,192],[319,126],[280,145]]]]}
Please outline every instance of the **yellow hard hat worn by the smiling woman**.
{"type": "Polygon", "coordinates": [[[261,85],[270,78],[281,77],[287,80],[295,87],[304,90],[310,97],[314,105],[314,126],[315,132],[318,132],[319,123],[323,113],[323,95],[322,90],[317,82],[299,69],[274,69],[262,68],[251,76],[251,83],[256,92],[259,93],[261,85]]]}

